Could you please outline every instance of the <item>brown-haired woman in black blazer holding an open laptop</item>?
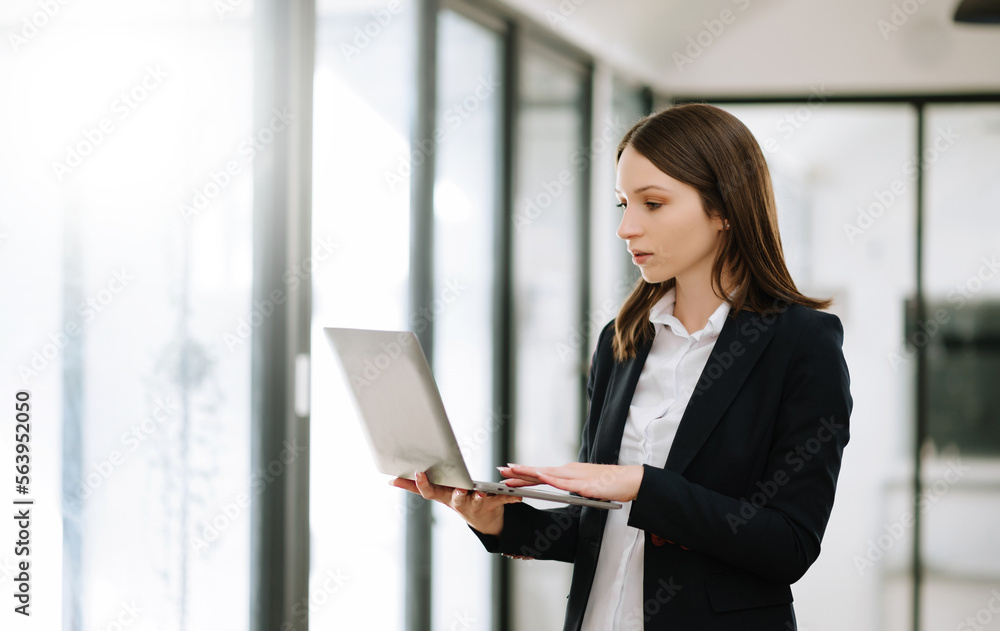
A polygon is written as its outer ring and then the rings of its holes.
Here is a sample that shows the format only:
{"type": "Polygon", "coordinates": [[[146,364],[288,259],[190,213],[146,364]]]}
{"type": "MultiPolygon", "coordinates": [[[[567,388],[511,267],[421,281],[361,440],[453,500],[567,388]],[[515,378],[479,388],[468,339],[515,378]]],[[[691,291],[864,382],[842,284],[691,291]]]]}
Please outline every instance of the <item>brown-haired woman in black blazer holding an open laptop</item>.
{"type": "Polygon", "coordinates": [[[724,110],[639,121],[616,193],[642,278],[598,339],[579,462],[500,471],[623,508],[393,483],[491,552],[573,563],[566,630],[795,629],[849,435],[843,327],[796,289],[760,147],[724,110]]]}

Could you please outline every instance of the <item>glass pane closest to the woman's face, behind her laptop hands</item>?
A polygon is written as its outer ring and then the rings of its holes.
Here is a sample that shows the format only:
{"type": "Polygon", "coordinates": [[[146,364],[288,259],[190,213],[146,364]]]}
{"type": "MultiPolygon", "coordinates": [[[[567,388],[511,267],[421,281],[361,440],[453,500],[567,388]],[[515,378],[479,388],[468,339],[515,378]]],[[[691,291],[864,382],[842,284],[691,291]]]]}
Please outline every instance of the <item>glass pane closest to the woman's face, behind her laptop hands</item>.
{"type": "MultiPolygon", "coordinates": [[[[514,325],[516,419],[514,458],[524,464],[576,460],[580,448],[579,344],[582,187],[588,148],[583,130],[586,74],[538,46],[521,59],[516,136],[514,325]]],[[[546,487],[540,487],[546,488],[546,487]]],[[[542,508],[551,503],[536,502],[542,508]]],[[[565,615],[571,566],[526,561],[514,566],[519,629],[559,628],[565,615]]]]}

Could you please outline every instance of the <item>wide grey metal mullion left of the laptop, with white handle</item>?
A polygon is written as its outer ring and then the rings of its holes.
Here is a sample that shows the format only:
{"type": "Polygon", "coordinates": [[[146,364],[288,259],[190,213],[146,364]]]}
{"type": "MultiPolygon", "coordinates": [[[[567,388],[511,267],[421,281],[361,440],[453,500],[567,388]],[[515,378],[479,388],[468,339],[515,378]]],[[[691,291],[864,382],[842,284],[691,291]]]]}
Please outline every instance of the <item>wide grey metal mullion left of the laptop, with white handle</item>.
{"type": "Polygon", "coordinates": [[[252,299],[271,309],[251,351],[250,475],[266,481],[251,495],[254,631],[308,627],[293,607],[309,590],[309,415],[294,402],[296,380],[308,378],[296,357],[309,353],[311,292],[309,283],[289,291],[283,275],[311,249],[315,13],[315,0],[254,5],[253,130],[272,133],[253,163],[252,299]],[[289,120],[276,130],[278,113],[289,120]]]}

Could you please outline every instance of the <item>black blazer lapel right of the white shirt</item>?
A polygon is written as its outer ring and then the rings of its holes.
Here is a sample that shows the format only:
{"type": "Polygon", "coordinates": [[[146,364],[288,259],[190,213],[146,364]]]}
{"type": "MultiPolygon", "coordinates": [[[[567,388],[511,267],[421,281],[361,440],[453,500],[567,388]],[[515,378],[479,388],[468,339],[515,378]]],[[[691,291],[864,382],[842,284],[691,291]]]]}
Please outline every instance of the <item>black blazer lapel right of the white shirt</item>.
{"type": "MultiPolygon", "coordinates": [[[[764,323],[759,314],[746,310],[735,319],[726,318],[677,427],[666,469],[683,473],[691,464],[771,341],[775,325],[775,321],[764,323]]],[[[628,403],[625,407],[627,410],[628,403]]]]}

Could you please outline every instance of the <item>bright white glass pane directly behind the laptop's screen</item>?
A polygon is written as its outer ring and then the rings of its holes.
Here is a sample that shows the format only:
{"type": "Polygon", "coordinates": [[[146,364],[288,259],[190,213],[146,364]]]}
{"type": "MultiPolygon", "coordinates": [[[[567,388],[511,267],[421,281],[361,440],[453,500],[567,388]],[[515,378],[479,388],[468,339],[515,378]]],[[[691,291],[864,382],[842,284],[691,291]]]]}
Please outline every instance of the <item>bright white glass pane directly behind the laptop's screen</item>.
{"type": "Polygon", "coordinates": [[[313,239],[337,248],[311,277],[312,628],[403,628],[406,511],[423,502],[375,469],[323,335],[410,323],[409,176],[423,157],[410,151],[415,11],[396,6],[317,7],[313,239]]]}

